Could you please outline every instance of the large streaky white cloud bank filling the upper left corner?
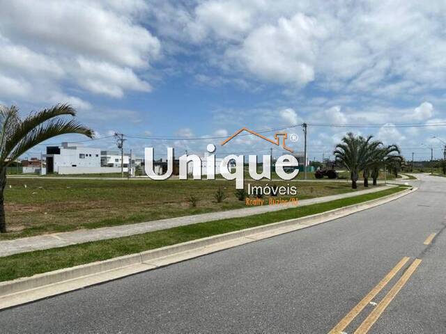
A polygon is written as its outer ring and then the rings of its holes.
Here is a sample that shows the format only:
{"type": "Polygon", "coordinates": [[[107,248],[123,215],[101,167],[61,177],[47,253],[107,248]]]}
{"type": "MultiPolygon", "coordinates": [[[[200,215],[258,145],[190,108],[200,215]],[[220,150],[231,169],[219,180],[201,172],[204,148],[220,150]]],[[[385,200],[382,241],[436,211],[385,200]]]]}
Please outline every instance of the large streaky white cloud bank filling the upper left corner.
{"type": "Polygon", "coordinates": [[[73,93],[123,97],[128,90],[150,91],[141,74],[151,70],[161,49],[140,23],[147,10],[141,0],[3,1],[0,98],[91,109],[73,93]]]}

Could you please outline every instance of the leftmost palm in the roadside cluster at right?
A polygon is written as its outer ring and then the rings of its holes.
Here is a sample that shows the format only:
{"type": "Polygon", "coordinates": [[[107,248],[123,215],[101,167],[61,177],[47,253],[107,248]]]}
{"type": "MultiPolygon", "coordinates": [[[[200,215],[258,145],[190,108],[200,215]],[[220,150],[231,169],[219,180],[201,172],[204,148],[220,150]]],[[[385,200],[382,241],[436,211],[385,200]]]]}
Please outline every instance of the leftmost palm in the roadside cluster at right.
{"type": "Polygon", "coordinates": [[[337,144],[333,152],[336,160],[350,172],[352,189],[357,189],[357,178],[360,170],[364,168],[364,161],[367,161],[367,150],[371,138],[372,136],[356,137],[353,133],[348,132],[342,138],[342,143],[337,144]]]}

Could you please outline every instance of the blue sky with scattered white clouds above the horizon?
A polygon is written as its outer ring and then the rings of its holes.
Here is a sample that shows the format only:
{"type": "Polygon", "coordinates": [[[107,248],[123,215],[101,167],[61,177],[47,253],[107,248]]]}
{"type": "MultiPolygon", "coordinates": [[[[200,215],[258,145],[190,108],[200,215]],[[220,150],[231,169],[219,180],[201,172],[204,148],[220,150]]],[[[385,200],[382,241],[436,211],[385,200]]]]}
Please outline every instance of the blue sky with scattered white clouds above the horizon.
{"type": "MultiPolygon", "coordinates": [[[[309,159],[332,154],[348,131],[395,143],[408,160],[430,159],[431,147],[443,157],[433,136],[446,141],[445,1],[0,0],[0,8],[0,104],[24,117],[68,103],[96,134],[47,143],[110,150],[119,132],[126,150],[165,157],[167,146],[205,152],[240,127],[287,127],[299,136],[289,145],[302,150],[307,122],[309,159]]],[[[217,145],[217,155],[269,150],[252,136],[217,145]]]]}

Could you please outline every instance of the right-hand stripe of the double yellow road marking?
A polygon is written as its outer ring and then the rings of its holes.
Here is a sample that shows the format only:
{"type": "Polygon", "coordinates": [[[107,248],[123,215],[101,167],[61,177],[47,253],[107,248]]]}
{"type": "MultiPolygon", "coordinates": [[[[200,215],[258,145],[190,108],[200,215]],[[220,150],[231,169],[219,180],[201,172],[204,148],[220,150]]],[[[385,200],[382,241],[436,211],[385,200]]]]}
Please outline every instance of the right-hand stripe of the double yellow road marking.
{"type": "Polygon", "coordinates": [[[385,308],[390,304],[390,302],[397,296],[399,290],[406,285],[407,281],[409,280],[410,276],[417,270],[417,267],[420,265],[422,260],[415,259],[412,264],[410,264],[410,267],[406,270],[405,273],[403,273],[403,276],[398,280],[397,283],[390,289],[389,292],[385,295],[382,301],[376,305],[376,308],[371,311],[369,316],[360,324],[360,326],[357,328],[354,334],[365,334],[369,331],[371,326],[374,326],[376,320],[380,317],[380,315],[384,312],[385,308]]]}

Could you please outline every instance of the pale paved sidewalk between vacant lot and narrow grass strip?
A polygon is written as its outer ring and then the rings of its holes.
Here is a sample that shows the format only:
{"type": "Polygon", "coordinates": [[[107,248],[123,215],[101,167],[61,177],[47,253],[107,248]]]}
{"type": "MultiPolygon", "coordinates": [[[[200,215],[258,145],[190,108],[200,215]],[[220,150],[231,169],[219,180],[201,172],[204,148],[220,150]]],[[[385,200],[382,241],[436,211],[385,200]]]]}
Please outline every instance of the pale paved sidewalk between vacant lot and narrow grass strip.
{"type": "Polygon", "coordinates": [[[243,209],[233,209],[222,212],[211,212],[208,214],[167,218],[158,221],[148,221],[145,223],[119,225],[108,228],[96,228],[94,230],[77,230],[72,232],[45,234],[36,237],[0,241],[0,257],[18,253],[25,253],[32,250],[42,250],[74,244],[82,244],[88,241],[127,237],[129,235],[141,234],[157,230],[165,230],[167,228],[174,228],[176,226],[190,225],[194,223],[217,221],[226,218],[252,216],[254,214],[274,212],[296,206],[302,207],[305,205],[312,205],[321,202],[329,202],[330,200],[339,200],[341,198],[363,195],[364,193],[375,193],[377,191],[386,189],[388,186],[390,185],[381,186],[374,189],[354,191],[352,193],[343,193],[339,195],[312,198],[309,200],[300,200],[298,202],[298,205],[288,203],[286,205],[264,205],[259,207],[246,207],[243,209]]]}

